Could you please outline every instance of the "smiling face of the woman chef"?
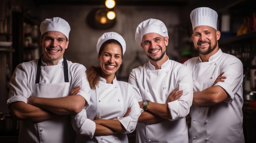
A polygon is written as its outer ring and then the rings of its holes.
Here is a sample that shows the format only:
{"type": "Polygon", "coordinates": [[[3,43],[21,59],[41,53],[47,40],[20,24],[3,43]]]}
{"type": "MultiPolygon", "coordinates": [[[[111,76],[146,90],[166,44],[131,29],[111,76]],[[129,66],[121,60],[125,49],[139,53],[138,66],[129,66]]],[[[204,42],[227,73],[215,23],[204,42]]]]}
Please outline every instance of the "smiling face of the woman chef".
{"type": "Polygon", "coordinates": [[[114,43],[104,45],[103,50],[99,53],[99,63],[101,67],[101,77],[114,79],[115,73],[122,62],[121,46],[114,43]]]}

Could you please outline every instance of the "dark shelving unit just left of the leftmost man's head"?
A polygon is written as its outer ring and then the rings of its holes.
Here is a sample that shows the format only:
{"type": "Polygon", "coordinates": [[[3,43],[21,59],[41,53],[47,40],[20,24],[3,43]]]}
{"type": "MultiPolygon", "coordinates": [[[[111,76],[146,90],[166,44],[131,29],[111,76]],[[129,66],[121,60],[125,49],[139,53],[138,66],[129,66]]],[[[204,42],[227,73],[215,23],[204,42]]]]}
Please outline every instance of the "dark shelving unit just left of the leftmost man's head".
{"type": "Polygon", "coordinates": [[[22,62],[36,59],[42,53],[39,45],[38,18],[31,18],[23,11],[12,12],[13,68],[22,62]]]}

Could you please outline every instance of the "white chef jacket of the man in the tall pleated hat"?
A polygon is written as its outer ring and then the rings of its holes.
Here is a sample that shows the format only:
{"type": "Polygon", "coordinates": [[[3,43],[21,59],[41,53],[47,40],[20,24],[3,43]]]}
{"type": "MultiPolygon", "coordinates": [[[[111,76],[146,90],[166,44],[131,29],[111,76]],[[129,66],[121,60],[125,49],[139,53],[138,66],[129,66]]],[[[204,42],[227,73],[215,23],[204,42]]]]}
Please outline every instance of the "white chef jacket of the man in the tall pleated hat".
{"type": "Polygon", "coordinates": [[[189,143],[243,143],[243,64],[235,56],[221,49],[202,62],[193,57],[184,62],[192,72],[194,92],[211,87],[220,73],[225,72],[225,82],[218,82],[228,98],[214,106],[191,107],[189,143]]]}

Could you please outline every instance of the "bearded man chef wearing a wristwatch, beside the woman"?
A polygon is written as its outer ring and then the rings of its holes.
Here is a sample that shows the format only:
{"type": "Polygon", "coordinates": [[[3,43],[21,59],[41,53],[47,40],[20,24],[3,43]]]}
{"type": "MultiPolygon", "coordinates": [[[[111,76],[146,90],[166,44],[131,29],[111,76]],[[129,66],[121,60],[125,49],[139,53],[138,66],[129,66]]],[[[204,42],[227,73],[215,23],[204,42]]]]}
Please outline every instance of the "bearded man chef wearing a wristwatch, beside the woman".
{"type": "Polygon", "coordinates": [[[149,61],[132,69],[128,79],[144,109],[137,124],[136,143],[189,142],[185,117],[193,101],[191,73],[166,55],[168,38],[160,20],[150,18],[137,26],[135,40],[149,61]]]}

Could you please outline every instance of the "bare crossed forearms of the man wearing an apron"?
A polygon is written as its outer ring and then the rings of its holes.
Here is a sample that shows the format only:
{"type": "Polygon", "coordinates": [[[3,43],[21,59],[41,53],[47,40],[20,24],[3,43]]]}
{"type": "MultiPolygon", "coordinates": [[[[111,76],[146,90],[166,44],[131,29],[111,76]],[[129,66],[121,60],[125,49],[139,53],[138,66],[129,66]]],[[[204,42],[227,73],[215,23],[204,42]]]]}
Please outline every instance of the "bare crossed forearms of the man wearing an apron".
{"type": "Polygon", "coordinates": [[[44,121],[60,115],[74,114],[82,110],[85,99],[81,95],[60,98],[28,98],[28,103],[11,103],[10,110],[15,119],[44,121]]]}

